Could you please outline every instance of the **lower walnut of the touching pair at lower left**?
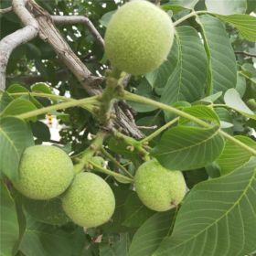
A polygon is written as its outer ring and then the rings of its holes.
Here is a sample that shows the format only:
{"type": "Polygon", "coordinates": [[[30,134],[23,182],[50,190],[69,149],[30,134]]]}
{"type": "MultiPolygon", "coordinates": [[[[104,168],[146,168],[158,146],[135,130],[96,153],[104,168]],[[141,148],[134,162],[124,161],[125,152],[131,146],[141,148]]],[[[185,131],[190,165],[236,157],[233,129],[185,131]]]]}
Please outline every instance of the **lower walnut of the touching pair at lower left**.
{"type": "Polygon", "coordinates": [[[97,227],[111,219],[115,198],[100,176],[80,173],[62,197],[62,207],[81,227],[97,227]]]}

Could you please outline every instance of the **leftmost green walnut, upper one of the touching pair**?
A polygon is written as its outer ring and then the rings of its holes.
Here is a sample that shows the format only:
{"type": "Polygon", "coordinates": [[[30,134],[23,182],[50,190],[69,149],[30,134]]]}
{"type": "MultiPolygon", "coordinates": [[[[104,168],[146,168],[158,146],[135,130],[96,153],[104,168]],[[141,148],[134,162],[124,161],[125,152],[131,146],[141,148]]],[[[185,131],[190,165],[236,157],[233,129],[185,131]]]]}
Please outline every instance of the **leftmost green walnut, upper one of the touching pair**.
{"type": "Polygon", "coordinates": [[[73,164],[56,146],[34,145],[22,155],[16,189],[26,197],[48,200],[58,197],[73,179],[73,164]]]}

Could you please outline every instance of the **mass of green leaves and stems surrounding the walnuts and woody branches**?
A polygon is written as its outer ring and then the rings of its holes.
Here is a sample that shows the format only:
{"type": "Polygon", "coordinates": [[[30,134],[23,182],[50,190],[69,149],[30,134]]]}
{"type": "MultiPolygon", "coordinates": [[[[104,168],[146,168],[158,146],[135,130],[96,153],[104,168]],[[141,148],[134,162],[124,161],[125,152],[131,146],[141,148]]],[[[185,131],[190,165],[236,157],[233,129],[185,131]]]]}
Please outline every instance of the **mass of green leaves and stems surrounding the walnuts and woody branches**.
{"type": "MultiPolygon", "coordinates": [[[[37,1],[51,15],[88,16],[101,37],[127,1],[115,2],[37,1]]],[[[1,1],[1,8],[9,5],[1,1]]],[[[0,95],[1,256],[255,253],[256,2],[163,0],[161,7],[176,26],[174,45],[160,67],[133,76],[125,91],[116,90],[123,73],[109,70],[101,44],[84,25],[59,26],[86,67],[104,77],[101,99],[89,97],[41,39],[12,53],[0,95]],[[132,108],[144,138],[101,129],[112,116],[112,98],[132,108]],[[47,113],[62,124],[59,142],[42,123],[47,113]],[[76,172],[85,168],[112,187],[109,222],[83,229],[59,212],[60,198],[38,202],[17,193],[12,182],[22,154],[42,143],[56,143],[76,172]],[[133,176],[151,158],[185,176],[190,190],[175,209],[156,213],[134,192],[133,176]]],[[[22,24],[8,12],[0,15],[0,27],[3,38],[22,24]]]]}

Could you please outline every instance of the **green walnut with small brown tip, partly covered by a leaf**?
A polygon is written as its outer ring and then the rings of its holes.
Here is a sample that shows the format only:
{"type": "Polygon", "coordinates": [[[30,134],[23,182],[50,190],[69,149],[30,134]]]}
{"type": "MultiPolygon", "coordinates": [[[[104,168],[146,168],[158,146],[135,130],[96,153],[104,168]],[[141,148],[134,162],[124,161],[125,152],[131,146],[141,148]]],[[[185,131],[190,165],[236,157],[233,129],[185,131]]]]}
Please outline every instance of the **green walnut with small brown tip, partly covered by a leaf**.
{"type": "Polygon", "coordinates": [[[134,177],[135,189],[144,205],[156,211],[175,208],[186,194],[180,171],[165,169],[156,160],[141,165],[134,177]]]}

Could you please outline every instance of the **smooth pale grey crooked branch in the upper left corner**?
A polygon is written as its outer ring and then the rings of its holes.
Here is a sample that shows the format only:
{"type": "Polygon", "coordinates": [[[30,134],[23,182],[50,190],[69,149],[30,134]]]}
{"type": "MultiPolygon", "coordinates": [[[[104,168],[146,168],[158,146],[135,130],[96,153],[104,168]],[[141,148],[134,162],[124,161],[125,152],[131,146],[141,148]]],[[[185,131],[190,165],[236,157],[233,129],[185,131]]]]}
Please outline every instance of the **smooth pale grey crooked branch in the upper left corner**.
{"type": "Polygon", "coordinates": [[[37,37],[38,25],[25,8],[23,0],[13,1],[13,10],[21,18],[26,27],[4,37],[0,41],[0,89],[5,90],[6,67],[13,50],[37,37]]]}

